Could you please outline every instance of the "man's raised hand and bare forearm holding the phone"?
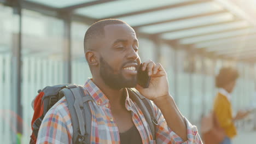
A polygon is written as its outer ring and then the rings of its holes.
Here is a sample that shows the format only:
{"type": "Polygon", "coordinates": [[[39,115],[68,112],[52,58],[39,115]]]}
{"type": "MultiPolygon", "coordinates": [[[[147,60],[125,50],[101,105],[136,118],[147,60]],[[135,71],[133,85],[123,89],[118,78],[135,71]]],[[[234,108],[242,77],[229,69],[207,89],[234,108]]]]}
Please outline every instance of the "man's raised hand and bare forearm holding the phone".
{"type": "Polygon", "coordinates": [[[152,61],[143,63],[142,70],[146,70],[146,68],[148,68],[148,75],[151,76],[149,87],[143,88],[137,85],[136,89],[144,97],[154,101],[154,104],[161,110],[168,127],[183,141],[187,141],[187,125],[168,91],[167,75],[164,68],[160,63],[155,64],[152,61]]]}

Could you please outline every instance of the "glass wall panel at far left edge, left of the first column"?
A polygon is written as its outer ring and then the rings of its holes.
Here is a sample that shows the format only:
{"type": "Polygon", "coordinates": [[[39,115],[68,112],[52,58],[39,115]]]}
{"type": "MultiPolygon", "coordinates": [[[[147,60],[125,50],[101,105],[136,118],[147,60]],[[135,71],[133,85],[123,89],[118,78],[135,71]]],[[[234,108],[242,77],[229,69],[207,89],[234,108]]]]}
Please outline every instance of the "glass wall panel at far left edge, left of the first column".
{"type": "Polygon", "coordinates": [[[1,143],[18,143],[16,137],[21,131],[16,125],[19,118],[16,112],[17,95],[11,81],[12,77],[16,77],[13,73],[13,65],[16,65],[13,54],[18,45],[19,16],[14,14],[12,8],[2,4],[0,11],[0,140],[1,143]]]}

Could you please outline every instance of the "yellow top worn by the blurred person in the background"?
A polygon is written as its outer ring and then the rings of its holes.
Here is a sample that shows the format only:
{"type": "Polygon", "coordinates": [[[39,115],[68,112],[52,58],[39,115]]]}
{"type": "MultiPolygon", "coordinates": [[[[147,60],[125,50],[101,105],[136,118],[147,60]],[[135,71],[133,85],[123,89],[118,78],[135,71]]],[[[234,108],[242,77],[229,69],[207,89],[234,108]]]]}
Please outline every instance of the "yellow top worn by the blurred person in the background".
{"type": "Polygon", "coordinates": [[[232,121],[232,106],[228,98],[218,93],[214,100],[213,111],[218,119],[220,127],[225,130],[226,135],[232,138],[236,135],[236,127],[232,121]]]}

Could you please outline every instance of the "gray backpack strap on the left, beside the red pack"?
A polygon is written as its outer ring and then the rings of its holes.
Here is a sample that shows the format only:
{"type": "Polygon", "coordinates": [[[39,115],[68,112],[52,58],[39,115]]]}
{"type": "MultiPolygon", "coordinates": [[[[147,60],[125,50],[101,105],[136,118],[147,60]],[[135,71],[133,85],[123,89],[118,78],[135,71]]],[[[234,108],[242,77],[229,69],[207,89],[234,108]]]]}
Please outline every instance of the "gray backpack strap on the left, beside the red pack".
{"type": "Polygon", "coordinates": [[[91,111],[88,101],[92,98],[77,85],[67,86],[61,94],[65,95],[71,113],[73,143],[90,143],[91,111]]]}

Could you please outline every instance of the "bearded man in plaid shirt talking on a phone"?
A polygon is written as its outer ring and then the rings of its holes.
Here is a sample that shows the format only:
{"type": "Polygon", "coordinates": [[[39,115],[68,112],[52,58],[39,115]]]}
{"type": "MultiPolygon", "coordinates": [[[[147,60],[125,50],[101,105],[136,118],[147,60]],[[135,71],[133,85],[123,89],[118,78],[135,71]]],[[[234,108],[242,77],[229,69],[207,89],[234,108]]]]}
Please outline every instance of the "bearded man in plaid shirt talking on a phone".
{"type": "MultiPolygon", "coordinates": [[[[168,92],[164,68],[152,61],[143,63],[152,76],[148,88],[137,85],[141,63],[135,31],[120,20],[94,23],[85,34],[85,57],[92,79],[84,89],[92,113],[91,143],[201,143],[195,126],[179,112],[168,92]],[[126,88],[135,87],[154,102],[158,125],[152,133],[141,110],[129,98],[126,88]]],[[[72,123],[65,98],[48,111],[41,124],[37,143],[72,143],[72,123]]]]}

